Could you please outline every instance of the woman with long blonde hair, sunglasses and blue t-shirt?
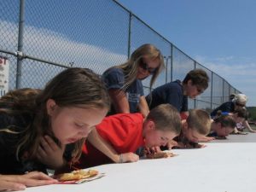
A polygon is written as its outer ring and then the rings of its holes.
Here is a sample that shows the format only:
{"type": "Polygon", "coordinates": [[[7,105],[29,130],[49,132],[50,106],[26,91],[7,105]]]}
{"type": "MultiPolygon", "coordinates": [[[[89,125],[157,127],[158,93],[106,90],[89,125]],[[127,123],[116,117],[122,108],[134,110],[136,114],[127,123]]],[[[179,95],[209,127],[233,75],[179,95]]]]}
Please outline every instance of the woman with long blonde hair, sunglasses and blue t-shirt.
{"type": "Polygon", "coordinates": [[[143,113],[149,109],[143,92],[142,80],[152,75],[150,89],[164,67],[163,55],[152,44],[143,44],[125,63],[108,68],[102,74],[112,106],[108,113],[143,113]]]}

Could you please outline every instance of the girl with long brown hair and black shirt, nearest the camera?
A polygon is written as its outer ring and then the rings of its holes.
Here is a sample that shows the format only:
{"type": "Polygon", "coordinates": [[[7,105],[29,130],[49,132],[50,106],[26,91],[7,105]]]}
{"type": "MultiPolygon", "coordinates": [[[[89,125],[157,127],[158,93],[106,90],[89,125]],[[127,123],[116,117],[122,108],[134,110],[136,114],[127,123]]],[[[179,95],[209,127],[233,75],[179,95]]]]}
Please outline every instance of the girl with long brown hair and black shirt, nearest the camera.
{"type": "MultiPolygon", "coordinates": [[[[108,113],[108,92],[89,69],[67,69],[44,90],[28,90],[14,90],[0,99],[0,174],[46,173],[49,150],[44,141],[64,149],[73,143],[70,160],[79,159],[91,127],[108,113]]],[[[65,164],[62,155],[53,161],[54,168],[65,164]]]]}

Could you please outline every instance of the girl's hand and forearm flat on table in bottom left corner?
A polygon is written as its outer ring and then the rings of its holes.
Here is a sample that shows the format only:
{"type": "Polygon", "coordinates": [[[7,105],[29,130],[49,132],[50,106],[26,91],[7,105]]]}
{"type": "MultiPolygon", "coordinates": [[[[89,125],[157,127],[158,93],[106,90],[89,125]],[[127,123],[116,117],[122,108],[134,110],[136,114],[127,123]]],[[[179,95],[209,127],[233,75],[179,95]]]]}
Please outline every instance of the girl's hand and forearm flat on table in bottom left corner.
{"type": "Polygon", "coordinates": [[[26,187],[57,182],[43,172],[29,172],[25,175],[0,175],[0,190],[24,190],[26,187]]]}

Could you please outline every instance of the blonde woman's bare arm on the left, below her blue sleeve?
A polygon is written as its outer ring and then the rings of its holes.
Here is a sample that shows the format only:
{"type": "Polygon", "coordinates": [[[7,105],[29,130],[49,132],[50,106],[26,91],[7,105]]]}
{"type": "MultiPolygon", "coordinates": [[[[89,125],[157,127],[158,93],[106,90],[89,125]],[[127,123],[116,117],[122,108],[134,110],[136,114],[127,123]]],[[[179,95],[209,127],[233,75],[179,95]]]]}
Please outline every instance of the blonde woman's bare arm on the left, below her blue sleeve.
{"type": "Polygon", "coordinates": [[[130,113],[129,102],[126,97],[125,91],[119,89],[110,89],[108,94],[113,103],[113,108],[116,113],[130,113]]]}

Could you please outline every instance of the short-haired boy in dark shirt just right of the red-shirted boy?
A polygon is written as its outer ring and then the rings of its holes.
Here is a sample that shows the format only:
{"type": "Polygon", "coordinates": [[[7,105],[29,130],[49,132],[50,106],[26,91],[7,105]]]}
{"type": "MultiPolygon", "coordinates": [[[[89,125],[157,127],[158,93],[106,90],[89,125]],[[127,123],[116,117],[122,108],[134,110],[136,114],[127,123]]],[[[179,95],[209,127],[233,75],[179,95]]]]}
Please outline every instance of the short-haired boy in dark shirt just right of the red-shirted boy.
{"type": "Polygon", "coordinates": [[[211,129],[211,118],[202,109],[189,110],[189,117],[182,120],[181,134],[174,138],[175,142],[168,143],[168,148],[204,148],[199,144],[201,137],[206,136],[211,129]]]}

